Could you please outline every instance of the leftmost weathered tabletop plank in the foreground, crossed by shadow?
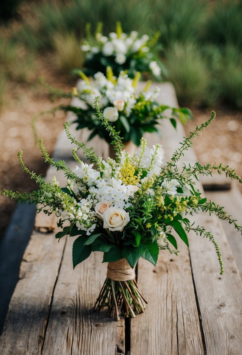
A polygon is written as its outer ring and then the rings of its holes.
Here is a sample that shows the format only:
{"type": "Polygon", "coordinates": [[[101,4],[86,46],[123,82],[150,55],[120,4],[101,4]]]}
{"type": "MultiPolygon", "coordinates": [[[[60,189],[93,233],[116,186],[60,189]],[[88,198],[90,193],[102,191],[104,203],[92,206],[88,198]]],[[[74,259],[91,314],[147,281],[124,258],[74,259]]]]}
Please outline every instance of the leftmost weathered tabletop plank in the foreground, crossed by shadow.
{"type": "Polygon", "coordinates": [[[23,255],[0,338],[0,354],[40,354],[65,239],[34,232],[23,255]]]}

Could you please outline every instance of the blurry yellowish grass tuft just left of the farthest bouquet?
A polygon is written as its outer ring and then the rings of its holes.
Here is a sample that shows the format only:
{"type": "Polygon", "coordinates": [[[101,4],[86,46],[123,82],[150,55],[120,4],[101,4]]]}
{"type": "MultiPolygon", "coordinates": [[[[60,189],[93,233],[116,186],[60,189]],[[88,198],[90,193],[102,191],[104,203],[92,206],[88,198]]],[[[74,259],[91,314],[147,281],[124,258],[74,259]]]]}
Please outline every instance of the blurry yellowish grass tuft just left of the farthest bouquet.
{"type": "Polygon", "coordinates": [[[56,33],[53,37],[53,46],[57,66],[62,71],[70,73],[72,69],[82,67],[81,42],[73,32],[56,33]]]}

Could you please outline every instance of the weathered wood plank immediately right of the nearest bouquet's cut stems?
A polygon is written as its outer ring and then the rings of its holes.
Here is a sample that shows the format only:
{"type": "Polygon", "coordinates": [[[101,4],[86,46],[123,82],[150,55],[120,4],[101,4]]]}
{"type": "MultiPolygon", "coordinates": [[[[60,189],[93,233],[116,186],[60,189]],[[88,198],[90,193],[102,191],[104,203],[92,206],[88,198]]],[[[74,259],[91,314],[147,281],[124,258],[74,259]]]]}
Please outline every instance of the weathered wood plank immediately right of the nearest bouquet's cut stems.
{"type": "Polygon", "coordinates": [[[178,248],[178,257],[161,251],[156,268],[138,262],[138,286],[149,303],[131,320],[131,355],[204,354],[189,253],[182,242],[178,248]]]}

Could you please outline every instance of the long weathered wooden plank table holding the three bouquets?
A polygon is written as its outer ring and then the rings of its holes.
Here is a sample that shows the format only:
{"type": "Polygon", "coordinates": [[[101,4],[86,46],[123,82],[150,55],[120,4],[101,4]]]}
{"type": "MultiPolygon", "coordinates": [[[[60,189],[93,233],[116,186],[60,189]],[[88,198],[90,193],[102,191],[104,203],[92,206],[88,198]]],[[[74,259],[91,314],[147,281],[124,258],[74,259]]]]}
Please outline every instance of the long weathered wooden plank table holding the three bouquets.
{"type": "MultiPolygon", "coordinates": [[[[171,84],[159,86],[159,101],[177,106],[171,84]]],[[[72,130],[86,140],[85,130],[75,132],[74,125],[72,130]]],[[[176,131],[170,122],[163,122],[162,132],[167,161],[185,133],[179,122],[176,131]]],[[[145,138],[148,145],[159,142],[154,135],[145,138]]],[[[107,156],[108,146],[98,138],[90,145],[107,156]]],[[[64,132],[57,140],[54,156],[75,165],[64,132]]],[[[183,162],[195,160],[190,150],[183,162]]],[[[57,176],[50,168],[47,179],[52,175],[57,176]]],[[[93,311],[106,277],[101,253],[92,253],[73,271],[73,237],[58,243],[54,218],[38,214],[7,312],[0,354],[241,355],[242,284],[234,257],[217,218],[200,214],[196,222],[212,231],[219,242],[224,275],[219,274],[213,245],[191,234],[189,250],[179,243],[178,257],[162,251],[156,268],[139,260],[138,285],[149,304],[142,315],[116,322],[105,312],[93,311]]]]}

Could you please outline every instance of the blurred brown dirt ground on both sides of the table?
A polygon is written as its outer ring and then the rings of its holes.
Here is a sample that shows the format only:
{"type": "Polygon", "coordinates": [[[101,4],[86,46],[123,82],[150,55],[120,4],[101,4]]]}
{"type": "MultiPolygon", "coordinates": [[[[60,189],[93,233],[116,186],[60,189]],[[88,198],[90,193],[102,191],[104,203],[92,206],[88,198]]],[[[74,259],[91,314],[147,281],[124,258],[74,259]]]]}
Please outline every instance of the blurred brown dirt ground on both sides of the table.
{"type": "MultiPolygon", "coordinates": [[[[75,85],[66,77],[57,73],[51,64],[39,59],[37,64],[39,76],[56,87],[69,91],[75,85]]],[[[37,80],[37,78],[36,78],[37,80]]],[[[31,126],[33,116],[42,110],[48,110],[64,101],[51,103],[48,94],[39,84],[9,84],[6,104],[0,111],[0,190],[17,190],[29,192],[36,189],[36,184],[24,173],[17,160],[19,149],[23,151],[23,160],[30,170],[45,175],[48,164],[44,163],[38,146],[34,145],[34,135],[31,126]]],[[[66,103],[68,101],[65,101],[66,103]]],[[[215,109],[216,110],[216,109],[215,109]]],[[[193,130],[196,124],[210,117],[209,109],[193,109],[194,121],[188,122],[186,133],[193,130]]],[[[237,169],[242,175],[242,113],[228,108],[219,108],[217,117],[211,126],[194,142],[194,149],[200,163],[225,163],[237,169]]],[[[43,138],[48,151],[53,151],[56,137],[65,122],[64,113],[54,117],[44,115],[37,122],[39,137],[43,138]]],[[[0,196],[0,235],[10,221],[16,206],[15,201],[0,196]]]]}

